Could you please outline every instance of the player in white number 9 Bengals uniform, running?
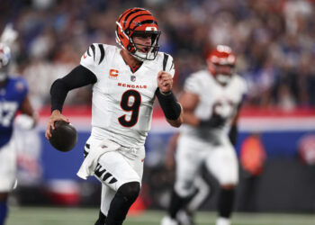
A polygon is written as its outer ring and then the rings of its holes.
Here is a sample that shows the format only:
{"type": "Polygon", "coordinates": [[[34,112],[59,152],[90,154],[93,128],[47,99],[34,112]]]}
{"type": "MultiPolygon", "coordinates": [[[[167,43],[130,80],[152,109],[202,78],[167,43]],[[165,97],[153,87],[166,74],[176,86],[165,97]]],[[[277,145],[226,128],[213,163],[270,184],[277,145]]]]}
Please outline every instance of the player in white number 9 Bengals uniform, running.
{"type": "Polygon", "coordinates": [[[130,8],[118,18],[115,32],[121,48],[92,44],[80,65],[50,89],[47,139],[54,121],[69,121],[61,113],[67,92],[93,85],[92,132],[77,175],[94,175],[102,183],[96,225],[122,224],[139,195],[155,98],[172,126],[183,121],[182,107],[172,93],[173,58],[158,51],[157,19],[146,9],[130,8]]]}

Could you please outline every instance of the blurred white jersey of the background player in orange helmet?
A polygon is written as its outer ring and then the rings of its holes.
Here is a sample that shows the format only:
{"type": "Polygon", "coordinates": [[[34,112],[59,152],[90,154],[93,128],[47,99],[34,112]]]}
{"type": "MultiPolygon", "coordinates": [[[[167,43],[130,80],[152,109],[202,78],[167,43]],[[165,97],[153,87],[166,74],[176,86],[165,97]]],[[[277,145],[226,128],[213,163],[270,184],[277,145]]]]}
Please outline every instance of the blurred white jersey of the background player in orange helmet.
{"type": "Polygon", "coordinates": [[[233,75],[228,85],[220,85],[208,70],[198,71],[189,76],[184,84],[184,91],[197,94],[199,103],[194,115],[202,120],[209,120],[213,113],[227,119],[225,126],[217,129],[201,129],[187,124],[180,128],[188,137],[216,141],[222,135],[228,135],[230,124],[238,111],[243,95],[247,92],[245,80],[233,75]]]}

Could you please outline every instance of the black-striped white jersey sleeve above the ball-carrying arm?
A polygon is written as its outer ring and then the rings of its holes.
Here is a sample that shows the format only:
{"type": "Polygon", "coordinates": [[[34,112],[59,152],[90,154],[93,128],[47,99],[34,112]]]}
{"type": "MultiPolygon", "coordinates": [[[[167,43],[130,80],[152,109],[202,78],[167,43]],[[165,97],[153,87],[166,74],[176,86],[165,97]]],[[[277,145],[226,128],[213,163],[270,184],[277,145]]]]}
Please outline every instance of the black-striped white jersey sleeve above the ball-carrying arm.
{"type": "Polygon", "coordinates": [[[96,73],[96,67],[105,60],[105,49],[103,44],[94,43],[91,44],[85,51],[85,54],[81,57],[80,64],[83,67],[88,68],[94,74],[96,73]]]}

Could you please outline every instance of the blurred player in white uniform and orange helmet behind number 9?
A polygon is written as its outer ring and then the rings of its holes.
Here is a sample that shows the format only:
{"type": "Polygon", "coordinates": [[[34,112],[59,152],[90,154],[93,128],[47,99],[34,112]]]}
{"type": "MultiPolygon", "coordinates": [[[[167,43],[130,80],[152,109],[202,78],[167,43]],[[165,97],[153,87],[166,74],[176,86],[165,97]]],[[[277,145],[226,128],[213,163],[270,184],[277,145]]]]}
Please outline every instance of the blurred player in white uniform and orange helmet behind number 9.
{"type": "Polygon", "coordinates": [[[162,225],[178,224],[175,215],[194,193],[193,180],[202,163],[220,184],[216,225],[230,224],[238,184],[238,158],[233,145],[238,110],[247,90],[245,80],[234,73],[235,63],[232,50],[219,45],[207,57],[208,70],[198,71],[185,81],[179,100],[184,109],[184,125],[175,155],[175,187],[162,225]]]}

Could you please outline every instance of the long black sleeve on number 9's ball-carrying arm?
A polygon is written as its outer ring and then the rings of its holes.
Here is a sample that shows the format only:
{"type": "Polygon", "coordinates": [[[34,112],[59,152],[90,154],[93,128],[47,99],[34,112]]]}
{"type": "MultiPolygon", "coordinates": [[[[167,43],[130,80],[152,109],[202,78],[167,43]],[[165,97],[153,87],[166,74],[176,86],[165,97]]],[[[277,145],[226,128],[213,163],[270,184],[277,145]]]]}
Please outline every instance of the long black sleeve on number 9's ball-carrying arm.
{"type": "Polygon", "coordinates": [[[57,79],[50,88],[51,112],[62,112],[63,103],[70,90],[94,84],[96,81],[94,73],[81,65],[75,67],[67,76],[57,79]]]}

